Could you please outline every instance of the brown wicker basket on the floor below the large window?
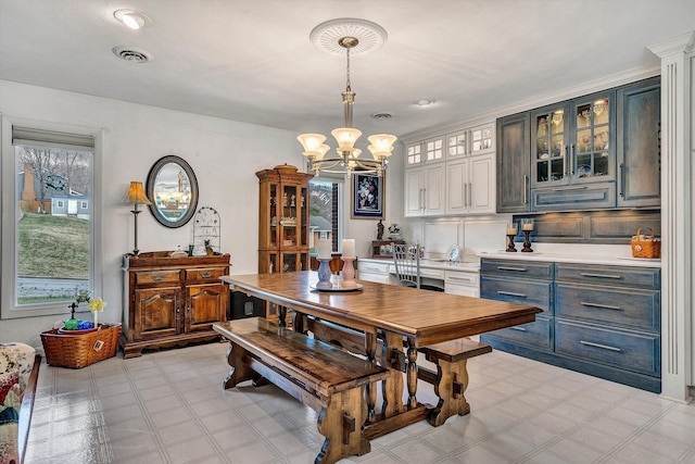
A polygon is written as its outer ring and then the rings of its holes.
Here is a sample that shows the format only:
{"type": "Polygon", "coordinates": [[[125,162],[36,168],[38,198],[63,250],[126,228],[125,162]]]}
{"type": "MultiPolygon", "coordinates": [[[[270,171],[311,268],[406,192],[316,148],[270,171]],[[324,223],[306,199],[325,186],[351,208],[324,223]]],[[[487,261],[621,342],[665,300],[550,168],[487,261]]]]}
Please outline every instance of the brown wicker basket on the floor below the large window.
{"type": "Polygon", "coordinates": [[[53,366],[81,368],[116,355],[121,324],[99,324],[90,334],[41,333],[46,362],[53,366]]]}

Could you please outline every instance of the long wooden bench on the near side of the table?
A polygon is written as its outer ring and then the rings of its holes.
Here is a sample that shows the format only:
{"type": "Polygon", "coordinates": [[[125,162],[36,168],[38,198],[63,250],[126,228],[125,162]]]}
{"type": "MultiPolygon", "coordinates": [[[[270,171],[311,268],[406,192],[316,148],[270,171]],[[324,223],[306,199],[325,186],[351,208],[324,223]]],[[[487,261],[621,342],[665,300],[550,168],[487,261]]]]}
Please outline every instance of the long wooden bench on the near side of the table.
{"type": "Polygon", "coordinates": [[[369,452],[362,431],[367,417],[364,389],[389,377],[387,368],[261,317],[213,328],[230,342],[225,389],[245,380],[255,385],[263,377],[319,413],[317,427],[326,440],[316,463],[369,452]]]}

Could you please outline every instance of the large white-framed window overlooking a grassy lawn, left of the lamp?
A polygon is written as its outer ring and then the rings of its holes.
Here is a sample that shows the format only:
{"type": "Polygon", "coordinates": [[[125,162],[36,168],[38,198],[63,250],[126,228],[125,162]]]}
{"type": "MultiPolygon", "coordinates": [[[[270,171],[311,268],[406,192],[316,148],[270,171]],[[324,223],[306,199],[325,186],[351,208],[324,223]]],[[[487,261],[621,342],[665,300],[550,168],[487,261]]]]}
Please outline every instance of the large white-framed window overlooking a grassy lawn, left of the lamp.
{"type": "Polygon", "coordinates": [[[3,318],[66,313],[76,293],[99,290],[94,147],[90,134],[3,118],[2,206],[16,212],[2,223],[3,318]]]}

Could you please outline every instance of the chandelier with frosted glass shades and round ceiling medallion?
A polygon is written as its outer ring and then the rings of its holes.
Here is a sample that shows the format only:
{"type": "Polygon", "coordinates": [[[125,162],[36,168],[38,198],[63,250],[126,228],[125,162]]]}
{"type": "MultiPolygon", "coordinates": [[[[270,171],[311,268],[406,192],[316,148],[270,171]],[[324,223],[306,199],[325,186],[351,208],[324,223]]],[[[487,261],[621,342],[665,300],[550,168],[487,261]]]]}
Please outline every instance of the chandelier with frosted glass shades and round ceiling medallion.
{"type": "Polygon", "coordinates": [[[339,173],[350,176],[353,171],[359,173],[376,173],[381,176],[387,168],[387,159],[393,151],[395,136],[377,134],[367,137],[368,150],[372,159],[359,158],[362,150],[355,148],[355,142],[362,136],[362,131],[352,126],[352,110],[355,102],[355,92],[350,85],[350,52],[357,53],[370,51],[379,47],[386,40],[386,30],[378,24],[365,20],[332,20],[321,23],[312,30],[311,40],[319,48],[333,54],[346,55],[346,85],[343,97],[344,127],[333,129],[331,135],[336,138],[338,147],[337,155],[330,155],[330,147],[324,141],[326,136],[321,134],[302,134],[296,139],[304,148],[307,167],[311,174],[339,173]]]}

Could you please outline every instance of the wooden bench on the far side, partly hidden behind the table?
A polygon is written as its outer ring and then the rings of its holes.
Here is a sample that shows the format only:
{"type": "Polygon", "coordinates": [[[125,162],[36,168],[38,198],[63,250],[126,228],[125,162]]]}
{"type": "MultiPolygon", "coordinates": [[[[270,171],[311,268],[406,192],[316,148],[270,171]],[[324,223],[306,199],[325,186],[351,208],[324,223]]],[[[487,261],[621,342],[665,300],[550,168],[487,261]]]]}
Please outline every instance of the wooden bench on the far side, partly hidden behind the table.
{"type": "MultiPolygon", "coordinates": [[[[336,344],[353,353],[365,354],[364,334],[348,327],[304,316],[301,326],[311,330],[315,338],[336,344]]],[[[393,350],[386,353],[380,341],[377,352],[381,354],[381,365],[406,371],[405,351],[393,350]]],[[[492,348],[468,338],[444,341],[418,349],[427,361],[437,365],[437,372],[418,365],[417,377],[434,387],[439,398],[438,404],[428,414],[428,421],[438,427],[455,415],[470,413],[470,405],[466,401],[465,391],[468,387],[468,371],[466,362],[470,358],[490,353],[492,348]]]]}

